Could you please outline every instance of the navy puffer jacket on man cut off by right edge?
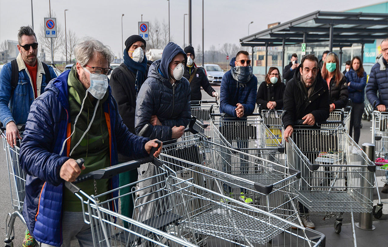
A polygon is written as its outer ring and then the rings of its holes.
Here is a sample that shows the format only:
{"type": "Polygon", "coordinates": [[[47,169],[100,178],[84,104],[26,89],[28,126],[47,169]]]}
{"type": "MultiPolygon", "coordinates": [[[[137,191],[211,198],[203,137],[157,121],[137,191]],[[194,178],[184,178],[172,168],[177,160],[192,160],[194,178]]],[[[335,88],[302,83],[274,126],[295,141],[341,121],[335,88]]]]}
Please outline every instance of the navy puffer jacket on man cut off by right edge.
{"type": "Polygon", "coordinates": [[[366,97],[372,105],[388,106],[388,66],[382,56],[370,70],[369,80],[366,84],[366,97]]]}

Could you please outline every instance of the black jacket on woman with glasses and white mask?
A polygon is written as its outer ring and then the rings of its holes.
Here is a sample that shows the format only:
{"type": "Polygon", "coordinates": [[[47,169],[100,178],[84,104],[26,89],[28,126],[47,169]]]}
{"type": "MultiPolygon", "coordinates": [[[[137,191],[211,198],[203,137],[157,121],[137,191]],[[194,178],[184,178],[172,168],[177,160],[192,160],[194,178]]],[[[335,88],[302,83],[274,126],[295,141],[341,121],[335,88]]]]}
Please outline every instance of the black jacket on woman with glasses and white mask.
{"type": "Polygon", "coordinates": [[[256,104],[262,105],[262,109],[268,109],[267,103],[268,101],[275,101],[276,107],[275,109],[280,110],[283,108],[283,94],[286,85],[282,82],[278,82],[276,84],[267,84],[266,82],[262,82],[257,90],[256,96],[256,104]]]}

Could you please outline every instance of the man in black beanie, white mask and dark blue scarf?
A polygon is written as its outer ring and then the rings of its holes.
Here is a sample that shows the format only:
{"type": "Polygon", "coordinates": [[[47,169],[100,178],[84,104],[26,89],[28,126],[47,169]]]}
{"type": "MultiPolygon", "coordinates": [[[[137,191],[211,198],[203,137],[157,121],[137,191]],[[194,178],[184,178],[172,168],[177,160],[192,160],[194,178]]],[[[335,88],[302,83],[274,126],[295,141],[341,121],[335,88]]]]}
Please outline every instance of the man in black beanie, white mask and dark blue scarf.
{"type": "MultiPolygon", "coordinates": [[[[144,56],[146,50],[146,41],[140,35],[132,35],[125,40],[124,63],[113,70],[110,76],[110,87],[112,95],[117,101],[118,113],[129,131],[136,135],[135,132],[135,109],[136,96],[139,93],[141,85],[147,79],[147,58],[144,56]]],[[[118,154],[118,162],[123,163],[130,161],[127,156],[118,154]]],[[[136,182],[138,171],[131,170],[119,174],[120,187],[136,182]]],[[[120,190],[120,194],[131,192],[130,187],[120,190]]],[[[131,195],[121,198],[121,213],[125,216],[132,217],[134,203],[131,195]]],[[[124,222],[127,227],[127,222],[124,222]]]]}

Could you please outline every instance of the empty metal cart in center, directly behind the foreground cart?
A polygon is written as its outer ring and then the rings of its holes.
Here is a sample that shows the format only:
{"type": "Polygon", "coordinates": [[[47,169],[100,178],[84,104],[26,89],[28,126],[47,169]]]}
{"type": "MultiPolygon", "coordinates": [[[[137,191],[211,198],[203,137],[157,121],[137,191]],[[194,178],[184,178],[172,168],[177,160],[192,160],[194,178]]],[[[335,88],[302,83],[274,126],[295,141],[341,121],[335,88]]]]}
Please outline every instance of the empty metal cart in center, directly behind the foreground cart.
{"type": "Polygon", "coordinates": [[[164,145],[160,155],[174,176],[254,205],[291,222],[298,221],[293,200],[299,172],[288,166],[217,144],[199,135],[164,145]]]}

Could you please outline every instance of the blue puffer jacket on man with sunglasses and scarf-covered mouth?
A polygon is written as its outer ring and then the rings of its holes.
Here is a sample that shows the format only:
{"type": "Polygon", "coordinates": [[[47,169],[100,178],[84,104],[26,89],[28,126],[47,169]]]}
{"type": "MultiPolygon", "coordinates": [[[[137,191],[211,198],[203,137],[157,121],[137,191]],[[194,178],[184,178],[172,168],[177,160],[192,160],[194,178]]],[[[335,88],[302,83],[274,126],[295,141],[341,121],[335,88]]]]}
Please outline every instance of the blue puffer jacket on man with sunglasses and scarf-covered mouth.
{"type": "MultiPolygon", "coordinates": [[[[230,66],[233,68],[235,57],[230,61],[230,66]]],[[[230,70],[225,73],[221,81],[220,93],[220,111],[227,113],[230,116],[237,117],[236,104],[240,103],[244,106],[244,117],[252,114],[256,103],[257,94],[257,78],[252,76],[247,83],[238,83],[233,79],[230,70]],[[244,84],[244,85],[242,85],[244,84]]]]}

